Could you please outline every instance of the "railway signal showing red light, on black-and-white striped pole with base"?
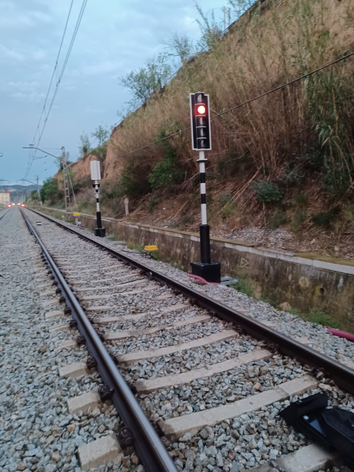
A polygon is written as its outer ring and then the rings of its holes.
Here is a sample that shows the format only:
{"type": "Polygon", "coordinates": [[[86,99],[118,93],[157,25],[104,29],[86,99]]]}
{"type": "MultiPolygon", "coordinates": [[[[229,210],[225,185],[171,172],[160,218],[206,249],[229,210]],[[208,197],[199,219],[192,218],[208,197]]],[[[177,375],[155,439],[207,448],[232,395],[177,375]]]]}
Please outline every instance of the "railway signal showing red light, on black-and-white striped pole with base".
{"type": "Polygon", "coordinates": [[[204,151],[211,150],[211,125],[209,95],[197,92],[190,94],[192,149],[199,151],[199,173],[201,193],[202,221],[200,231],[200,262],[192,262],[192,274],[204,278],[208,282],[220,282],[220,264],[211,261],[210,231],[207,223],[206,186],[205,186],[205,157],[204,151]]]}

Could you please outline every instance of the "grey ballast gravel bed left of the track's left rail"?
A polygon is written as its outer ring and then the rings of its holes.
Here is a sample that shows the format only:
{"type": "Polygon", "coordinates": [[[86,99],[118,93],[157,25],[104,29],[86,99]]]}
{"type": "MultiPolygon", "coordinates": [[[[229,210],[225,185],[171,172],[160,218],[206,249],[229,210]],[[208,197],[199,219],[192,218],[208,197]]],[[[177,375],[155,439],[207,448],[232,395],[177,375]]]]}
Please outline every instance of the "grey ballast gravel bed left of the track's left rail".
{"type": "MultiPolygon", "coordinates": [[[[39,246],[17,208],[0,221],[0,471],[81,472],[81,445],[118,432],[113,405],[87,414],[67,412],[67,399],[101,385],[97,373],[59,377],[65,357],[55,350],[55,321],[45,320],[38,286],[49,281],[34,269],[39,246]]],[[[61,305],[62,308],[62,305],[61,305]]],[[[51,309],[51,308],[50,308],[51,309]]],[[[143,472],[136,456],[123,454],[100,472],[143,472]]]]}

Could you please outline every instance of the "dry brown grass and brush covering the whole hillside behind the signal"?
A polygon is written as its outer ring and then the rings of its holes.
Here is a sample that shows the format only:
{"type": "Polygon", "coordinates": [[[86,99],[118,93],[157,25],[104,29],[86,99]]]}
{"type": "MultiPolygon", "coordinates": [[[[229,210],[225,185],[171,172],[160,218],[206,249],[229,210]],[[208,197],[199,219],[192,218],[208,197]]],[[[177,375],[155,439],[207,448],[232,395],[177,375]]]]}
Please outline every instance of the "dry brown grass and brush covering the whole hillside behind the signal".
{"type": "MultiPolygon", "coordinates": [[[[114,130],[104,170],[110,191],[119,187],[129,160],[135,165],[135,180],[139,176],[146,180],[154,164],[164,158],[164,148],[153,145],[126,158],[117,159],[119,155],[190,126],[190,92],[209,93],[212,115],[218,114],[354,50],[354,0],[268,0],[261,5],[262,10],[256,6],[246,13],[211,51],[180,70],[165,90],[114,130]]],[[[213,149],[207,153],[206,170],[212,173],[207,177],[207,195],[212,197],[208,221],[214,235],[280,221],[282,229],[295,232],[288,249],[352,257],[346,249],[354,237],[350,192],[330,196],[331,182],[325,188],[324,177],[327,172],[333,184],[336,172],[343,175],[349,169],[349,180],[344,182],[349,185],[354,175],[353,65],[354,59],[343,61],[212,121],[213,149]],[[277,205],[256,202],[253,182],[277,182],[289,164],[303,172],[303,182],[282,187],[284,198],[277,205]],[[227,192],[230,201],[220,202],[227,192]],[[301,203],[300,192],[308,195],[308,202],[301,203]],[[325,234],[313,225],[311,215],[337,204],[343,213],[325,234]],[[335,252],[334,244],[343,244],[343,252],[335,252]]],[[[178,193],[167,189],[143,199],[132,197],[132,213],[126,218],[121,195],[104,200],[102,188],[102,211],[107,216],[198,229],[198,164],[190,131],[170,141],[185,171],[178,193]]],[[[92,199],[93,194],[85,197],[87,207],[92,199]]]]}

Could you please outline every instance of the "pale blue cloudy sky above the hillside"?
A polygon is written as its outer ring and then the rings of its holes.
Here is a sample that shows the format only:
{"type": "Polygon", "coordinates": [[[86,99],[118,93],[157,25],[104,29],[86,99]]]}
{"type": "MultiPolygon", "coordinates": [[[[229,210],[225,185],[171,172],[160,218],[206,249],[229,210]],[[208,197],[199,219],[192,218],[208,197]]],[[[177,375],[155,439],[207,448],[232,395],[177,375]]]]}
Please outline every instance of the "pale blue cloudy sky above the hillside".
{"type": "MultiPolygon", "coordinates": [[[[0,0],[0,179],[12,184],[25,176],[29,151],[22,147],[33,142],[70,3],[0,0]]],[[[217,19],[226,4],[199,0],[217,19]]],[[[82,0],[74,0],[59,70],[81,5],[82,0]]],[[[65,146],[76,158],[83,131],[92,133],[100,124],[110,127],[118,121],[117,111],[129,98],[118,78],[162,51],[161,41],[174,31],[198,38],[196,16],[193,0],[88,0],[40,147],[65,146]]],[[[53,160],[35,160],[28,179],[53,175],[53,160]]]]}

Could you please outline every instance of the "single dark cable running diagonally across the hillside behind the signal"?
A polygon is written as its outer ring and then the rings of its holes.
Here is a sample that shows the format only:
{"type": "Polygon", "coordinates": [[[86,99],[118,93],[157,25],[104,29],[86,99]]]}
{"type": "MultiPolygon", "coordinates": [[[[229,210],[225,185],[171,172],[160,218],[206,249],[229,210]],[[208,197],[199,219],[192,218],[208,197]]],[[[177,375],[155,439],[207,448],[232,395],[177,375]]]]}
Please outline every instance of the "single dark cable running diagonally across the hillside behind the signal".
{"type": "MultiPolygon", "coordinates": [[[[345,56],[342,56],[341,58],[339,59],[336,59],[332,62],[329,62],[328,64],[325,64],[324,66],[321,66],[317,69],[314,69],[312,70],[311,72],[308,72],[307,74],[304,74],[303,76],[299,76],[299,77],[296,77],[295,79],[293,80],[290,80],[289,82],[287,82],[286,84],[283,84],[283,85],[279,85],[278,87],[275,87],[271,90],[268,90],[268,92],[264,92],[264,93],[261,93],[261,95],[257,95],[256,97],[253,97],[249,100],[246,100],[242,103],[239,103],[238,105],[235,105],[234,107],[232,108],[229,108],[228,110],[225,110],[225,111],[222,111],[221,113],[218,113],[217,115],[214,115],[213,117],[211,117],[211,119],[215,119],[215,118],[218,118],[220,117],[221,115],[225,115],[225,113],[229,113],[230,111],[233,111],[233,110],[236,110],[237,108],[240,108],[240,107],[243,107],[244,105],[247,105],[248,103],[252,103],[253,101],[256,101],[262,97],[265,97],[266,95],[269,95],[270,93],[273,93],[273,92],[276,92],[277,90],[280,90],[282,88],[285,88],[287,87],[288,85],[291,85],[291,84],[295,84],[295,82],[298,82],[299,80],[302,80],[302,79],[305,79],[306,77],[309,77],[309,76],[312,76],[313,74],[316,74],[317,72],[320,72],[320,70],[323,70],[327,67],[330,67],[330,66],[333,66],[334,64],[337,64],[338,62],[341,62],[342,60],[345,60],[345,59],[348,59],[350,58],[351,56],[354,55],[354,52],[350,52],[349,54],[346,54],[345,56]]],[[[173,133],[169,136],[166,136],[164,138],[161,138],[157,141],[154,141],[153,143],[150,143],[150,144],[146,144],[145,146],[141,146],[140,148],[137,148],[135,149],[134,151],[129,151],[129,152],[125,152],[124,154],[120,154],[119,156],[117,157],[114,157],[112,159],[109,159],[109,160],[106,160],[105,162],[109,162],[111,160],[116,160],[116,159],[120,159],[122,157],[126,157],[126,156],[129,156],[130,154],[133,154],[134,152],[138,152],[138,151],[142,151],[143,149],[146,149],[150,146],[153,146],[154,144],[157,144],[157,143],[161,143],[162,141],[166,141],[167,139],[170,139],[174,136],[177,136],[177,135],[181,135],[182,133],[185,133],[185,131],[188,131],[190,130],[191,127],[189,126],[188,128],[185,128],[185,129],[182,129],[180,131],[177,131],[176,133],[173,133]]]]}

